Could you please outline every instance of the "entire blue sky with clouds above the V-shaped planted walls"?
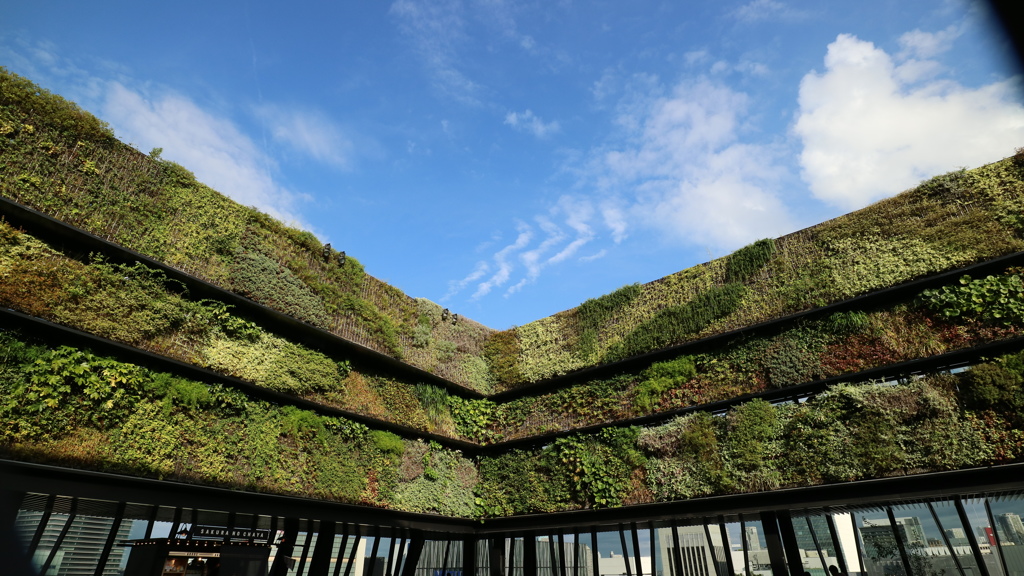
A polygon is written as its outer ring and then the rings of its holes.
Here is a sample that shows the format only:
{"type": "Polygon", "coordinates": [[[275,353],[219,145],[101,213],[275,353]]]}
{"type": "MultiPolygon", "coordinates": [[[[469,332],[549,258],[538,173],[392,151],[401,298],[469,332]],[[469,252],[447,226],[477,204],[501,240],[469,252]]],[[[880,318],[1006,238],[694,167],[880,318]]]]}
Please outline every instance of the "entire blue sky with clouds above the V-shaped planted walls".
{"type": "Polygon", "coordinates": [[[4,0],[0,65],[494,328],[1024,146],[966,0],[4,0]]]}

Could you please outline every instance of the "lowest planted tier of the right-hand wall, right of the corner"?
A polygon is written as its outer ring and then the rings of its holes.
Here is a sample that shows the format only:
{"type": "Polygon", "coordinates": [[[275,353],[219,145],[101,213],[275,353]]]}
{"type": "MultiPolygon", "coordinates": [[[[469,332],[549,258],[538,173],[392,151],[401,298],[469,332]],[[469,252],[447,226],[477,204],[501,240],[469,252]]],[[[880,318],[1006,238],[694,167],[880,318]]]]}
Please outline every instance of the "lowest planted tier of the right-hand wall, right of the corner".
{"type": "Polygon", "coordinates": [[[607,427],[479,464],[488,516],[665,502],[1020,461],[1024,359],[842,384],[640,428],[607,427]]]}

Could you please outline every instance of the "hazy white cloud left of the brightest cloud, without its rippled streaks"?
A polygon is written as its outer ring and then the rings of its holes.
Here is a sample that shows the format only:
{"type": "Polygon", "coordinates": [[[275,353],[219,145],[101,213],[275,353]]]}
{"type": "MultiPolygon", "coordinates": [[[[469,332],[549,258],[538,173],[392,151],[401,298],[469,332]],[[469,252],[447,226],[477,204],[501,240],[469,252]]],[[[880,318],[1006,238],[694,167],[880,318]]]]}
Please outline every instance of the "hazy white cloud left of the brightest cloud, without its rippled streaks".
{"type": "Polygon", "coordinates": [[[708,79],[680,82],[665,96],[631,105],[628,141],[592,167],[616,195],[609,225],[626,221],[665,237],[720,249],[792,230],[776,194],[784,170],[773,149],[740,141],[749,97],[708,79]]]}

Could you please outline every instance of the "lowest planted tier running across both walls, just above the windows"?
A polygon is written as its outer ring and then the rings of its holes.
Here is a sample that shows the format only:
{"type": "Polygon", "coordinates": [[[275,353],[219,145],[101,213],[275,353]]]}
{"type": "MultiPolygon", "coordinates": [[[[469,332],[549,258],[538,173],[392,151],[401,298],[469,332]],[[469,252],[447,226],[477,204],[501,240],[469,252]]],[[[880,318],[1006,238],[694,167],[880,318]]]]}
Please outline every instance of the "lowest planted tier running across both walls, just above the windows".
{"type": "Polygon", "coordinates": [[[606,427],[476,460],[217,384],[0,333],[0,454],[213,486],[494,517],[955,469],[1024,456],[1024,354],[798,404],[606,427]]]}

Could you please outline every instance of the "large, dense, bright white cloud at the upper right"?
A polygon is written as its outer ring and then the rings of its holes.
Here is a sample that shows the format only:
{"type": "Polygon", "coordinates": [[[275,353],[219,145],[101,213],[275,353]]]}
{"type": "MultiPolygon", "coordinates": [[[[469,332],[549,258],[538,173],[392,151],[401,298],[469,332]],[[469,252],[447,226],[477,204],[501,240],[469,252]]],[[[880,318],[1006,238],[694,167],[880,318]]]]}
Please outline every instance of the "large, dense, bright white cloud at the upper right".
{"type": "Polygon", "coordinates": [[[926,177],[1001,158],[1024,142],[1017,80],[977,88],[922,80],[930,78],[923,67],[937,65],[910,56],[941,53],[954,37],[951,29],[904,35],[905,59],[847,34],[828,45],[825,71],[801,82],[794,128],[814,196],[859,208],[926,177]]]}

